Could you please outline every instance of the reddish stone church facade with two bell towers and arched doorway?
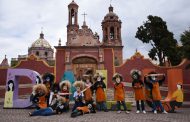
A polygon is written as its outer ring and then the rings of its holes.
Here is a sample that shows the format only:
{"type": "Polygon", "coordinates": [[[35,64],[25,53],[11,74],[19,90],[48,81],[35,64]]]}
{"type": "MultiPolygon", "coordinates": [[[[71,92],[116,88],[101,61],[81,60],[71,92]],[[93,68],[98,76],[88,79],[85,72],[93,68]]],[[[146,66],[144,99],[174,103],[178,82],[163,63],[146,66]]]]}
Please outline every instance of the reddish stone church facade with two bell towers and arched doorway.
{"type": "MultiPolygon", "coordinates": [[[[122,64],[122,38],[121,38],[121,20],[114,13],[110,5],[108,13],[102,20],[103,40],[99,40],[97,33],[86,25],[78,24],[79,6],[72,1],[68,5],[68,25],[67,25],[67,42],[66,46],[61,46],[59,42],[56,48],[56,69],[61,65],[65,71],[72,70],[76,78],[80,80],[83,74],[90,73],[105,68],[105,51],[104,49],[113,49],[115,65],[122,64]],[[62,58],[61,60],[59,58],[62,58]]],[[[84,14],[85,18],[85,14],[84,14]]],[[[63,71],[62,71],[63,72],[63,71]]]]}

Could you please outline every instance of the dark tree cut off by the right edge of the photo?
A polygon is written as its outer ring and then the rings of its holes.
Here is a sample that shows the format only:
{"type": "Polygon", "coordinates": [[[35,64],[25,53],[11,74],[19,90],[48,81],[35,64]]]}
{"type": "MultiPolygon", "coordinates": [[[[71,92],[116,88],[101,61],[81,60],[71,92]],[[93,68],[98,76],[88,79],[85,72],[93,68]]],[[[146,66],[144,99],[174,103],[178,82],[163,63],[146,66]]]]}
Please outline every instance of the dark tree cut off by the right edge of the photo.
{"type": "Polygon", "coordinates": [[[183,58],[190,59],[190,28],[181,34],[180,41],[183,58]]]}

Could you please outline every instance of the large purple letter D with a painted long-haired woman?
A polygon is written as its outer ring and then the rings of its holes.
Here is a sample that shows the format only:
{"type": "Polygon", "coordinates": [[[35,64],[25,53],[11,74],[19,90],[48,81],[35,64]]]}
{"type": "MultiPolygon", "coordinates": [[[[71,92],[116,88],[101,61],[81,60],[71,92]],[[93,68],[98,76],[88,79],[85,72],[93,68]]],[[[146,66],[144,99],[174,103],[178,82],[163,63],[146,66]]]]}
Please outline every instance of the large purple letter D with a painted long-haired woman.
{"type": "Polygon", "coordinates": [[[19,77],[28,77],[32,84],[41,83],[40,74],[29,69],[8,69],[4,108],[26,108],[32,105],[30,99],[19,99],[19,77]]]}

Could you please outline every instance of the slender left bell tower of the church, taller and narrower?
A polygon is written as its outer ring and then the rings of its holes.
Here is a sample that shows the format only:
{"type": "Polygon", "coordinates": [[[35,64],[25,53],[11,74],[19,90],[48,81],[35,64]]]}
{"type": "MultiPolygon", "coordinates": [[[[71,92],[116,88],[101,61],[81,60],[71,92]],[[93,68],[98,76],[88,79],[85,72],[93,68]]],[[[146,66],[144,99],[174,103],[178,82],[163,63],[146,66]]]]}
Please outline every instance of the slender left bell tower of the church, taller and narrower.
{"type": "Polygon", "coordinates": [[[67,25],[67,44],[70,44],[72,38],[75,38],[79,30],[78,25],[78,5],[74,0],[68,5],[68,25],[67,25]]]}

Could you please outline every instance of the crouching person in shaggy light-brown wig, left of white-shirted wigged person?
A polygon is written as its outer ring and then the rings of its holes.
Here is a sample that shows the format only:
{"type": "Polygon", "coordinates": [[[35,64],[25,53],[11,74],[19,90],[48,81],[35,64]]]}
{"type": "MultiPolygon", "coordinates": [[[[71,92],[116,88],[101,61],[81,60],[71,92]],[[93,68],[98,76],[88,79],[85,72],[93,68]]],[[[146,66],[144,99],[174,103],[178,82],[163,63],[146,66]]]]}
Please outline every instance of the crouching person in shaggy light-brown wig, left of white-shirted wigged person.
{"type": "Polygon", "coordinates": [[[67,110],[69,110],[69,97],[70,97],[70,88],[71,88],[71,83],[68,81],[68,80],[65,80],[65,81],[61,81],[59,83],[59,86],[60,86],[60,95],[62,97],[65,97],[66,99],[66,108],[67,110]]]}

